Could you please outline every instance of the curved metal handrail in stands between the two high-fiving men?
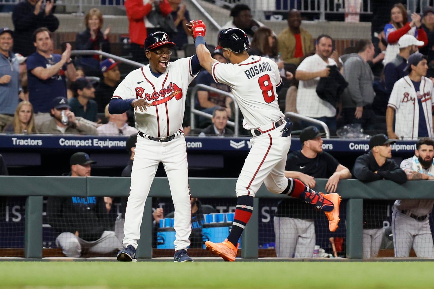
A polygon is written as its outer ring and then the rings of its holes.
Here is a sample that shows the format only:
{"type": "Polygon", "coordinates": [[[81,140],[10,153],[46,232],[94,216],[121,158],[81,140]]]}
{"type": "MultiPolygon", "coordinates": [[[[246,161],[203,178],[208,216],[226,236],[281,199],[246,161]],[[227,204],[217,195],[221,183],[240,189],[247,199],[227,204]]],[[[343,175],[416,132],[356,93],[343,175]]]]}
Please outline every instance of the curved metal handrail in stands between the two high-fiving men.
{"type": "Polygon", "coordinates": [[[212,92],[216,92],[219,94],[223,94],[225,96],[232,98],[233,106],[234,106],[234,110],[235,110],[235,117],[234,117],[235,121],[233,122],[233,121],[228,120],[227,125],[233,127],[234,136],[238,136],[238,133],[239,133],[239,128],[238,128],[239,121],[238,120],[240,119],[240,110],[238,108],[237,101],[235,101],[235,98],[229,92],[223,91],[223,90],[220,90],[217,88],[213,88],[213,87],[210,87],[210,86],[205,85],[205,84],[196,84],[191,89],[191,96],[190,96],[190,127],[191,127],[191,129],[195,128],[195,124],[194,124],[194,115],[195,114],[203,116],[203,117],[207,117],[207,118],[213,117],[212,114],[207,114],[201,110],[197,110],[194,108],[194,98],[196,97],[196,94],[197,94],[197,91],[199,90],[199,88],[201,88],[202,90],[212,91],[212,92]]]}

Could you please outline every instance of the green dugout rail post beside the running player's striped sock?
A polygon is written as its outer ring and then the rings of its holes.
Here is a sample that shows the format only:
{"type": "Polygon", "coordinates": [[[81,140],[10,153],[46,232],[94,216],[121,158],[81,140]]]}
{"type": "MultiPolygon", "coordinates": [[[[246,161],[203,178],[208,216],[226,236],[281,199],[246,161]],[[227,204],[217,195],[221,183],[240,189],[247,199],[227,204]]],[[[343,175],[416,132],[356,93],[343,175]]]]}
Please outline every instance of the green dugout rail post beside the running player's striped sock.
{"type": "Polygon", "coordinates": [[[257,259],[259,257],[258,218],[259,218],[259,198],[254,198],[253,213],[241,237],[241,258],[257,259]]]}

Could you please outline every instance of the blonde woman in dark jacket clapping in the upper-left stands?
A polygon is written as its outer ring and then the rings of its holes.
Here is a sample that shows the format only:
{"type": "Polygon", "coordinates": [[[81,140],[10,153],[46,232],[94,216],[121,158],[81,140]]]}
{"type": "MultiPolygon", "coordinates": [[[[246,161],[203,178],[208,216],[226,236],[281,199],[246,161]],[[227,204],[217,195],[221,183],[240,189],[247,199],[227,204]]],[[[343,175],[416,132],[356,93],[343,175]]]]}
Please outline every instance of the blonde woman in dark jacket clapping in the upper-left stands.
{"type": "MultiPolygon", "coordinates": [[[[102,32],[104,19],[102,13],[97,8],[92,8],[84,18],[86,30],[77,33],[76,36],[76,49],[77,50],[100,50],[110,53],[109,33],[112,29],[111,26],[102,32]]],[[[88,76],[100,76],[99,62],[102,60],[100,55],[84,55],[77,58],[75,65],[83,67],[85,74],[88,76]]]]}

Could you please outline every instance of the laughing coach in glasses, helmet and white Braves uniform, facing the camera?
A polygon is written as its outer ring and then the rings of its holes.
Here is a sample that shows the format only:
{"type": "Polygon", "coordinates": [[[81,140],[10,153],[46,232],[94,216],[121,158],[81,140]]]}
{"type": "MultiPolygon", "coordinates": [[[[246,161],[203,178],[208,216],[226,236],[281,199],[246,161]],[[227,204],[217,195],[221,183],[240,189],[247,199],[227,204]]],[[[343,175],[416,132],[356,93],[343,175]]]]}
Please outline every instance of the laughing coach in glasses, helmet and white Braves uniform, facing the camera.
{"type": "Polygon", "coordinates": [[[145,40],[149,64],[128,74],[109,104],[110,114],[122,114],[134,107],[139,131],[125,212],[123,243],[126,248],[118,253],[118,261],[137,261],[136,248],[145,201],[158,164],[163,162],[175,207],[174,261],[193,262],[187,254],[191,206],[182,120],[188,84],[201,66],[196,55],[170,62],[174,46],[164,32],[149,34],[145,40]]]}

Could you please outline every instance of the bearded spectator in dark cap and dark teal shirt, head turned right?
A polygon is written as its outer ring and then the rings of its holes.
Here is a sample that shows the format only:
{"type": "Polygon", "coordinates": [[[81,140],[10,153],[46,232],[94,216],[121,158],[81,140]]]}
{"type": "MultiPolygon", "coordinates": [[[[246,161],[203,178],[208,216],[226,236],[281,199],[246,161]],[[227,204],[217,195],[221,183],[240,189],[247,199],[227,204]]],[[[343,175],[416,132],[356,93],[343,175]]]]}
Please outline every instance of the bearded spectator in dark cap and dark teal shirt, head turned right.
{"type": "Polygon", "coordinates": [[[98,104],[94,101],[95,88],[92,83],[87,78],[80,77],[71,84],[71,90],[74,97],[68,100],[70,110],[76,117],[97,122],[98,104]]]}

